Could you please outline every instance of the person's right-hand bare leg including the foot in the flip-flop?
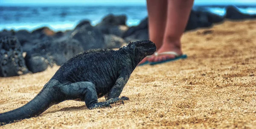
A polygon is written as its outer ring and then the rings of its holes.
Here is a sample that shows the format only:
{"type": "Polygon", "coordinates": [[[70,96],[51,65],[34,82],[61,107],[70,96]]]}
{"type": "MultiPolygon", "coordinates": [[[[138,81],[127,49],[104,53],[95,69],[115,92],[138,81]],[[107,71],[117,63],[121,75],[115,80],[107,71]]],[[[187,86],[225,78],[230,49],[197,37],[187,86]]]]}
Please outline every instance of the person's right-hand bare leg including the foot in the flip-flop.
{"type": "MultiPolygon", "coordinates": [[[[166,28],[163,36],[163,44],[157,53],[172,51],[182,55],[181,36],[185,30],[194,0],[168,0],[166,28]]],[[[148,61],[159,62],[174,59],[175,55],[152,56],[148,61]]]]}

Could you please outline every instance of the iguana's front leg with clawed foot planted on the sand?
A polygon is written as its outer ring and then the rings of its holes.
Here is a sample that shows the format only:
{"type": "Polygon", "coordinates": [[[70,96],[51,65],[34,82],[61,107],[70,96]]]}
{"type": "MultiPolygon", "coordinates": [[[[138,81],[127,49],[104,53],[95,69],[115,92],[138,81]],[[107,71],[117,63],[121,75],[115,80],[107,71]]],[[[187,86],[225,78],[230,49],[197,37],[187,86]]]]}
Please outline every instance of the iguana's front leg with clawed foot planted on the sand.
{"type": "Polygon", "coordinates": [[[116,102],[122,102],[124,103],[123,100],[129,100],[128,97],[122,96],[121,98],[118,98],[119,95],[122,93],[123,88],[125,87],[125,84],[129,80],[130,74],[129,75],[121,75],[116,79],[116,83],[114,86],[111,88],[110,92],[105,95],[105,98],[109,104],[113,104],[116,102]]]}

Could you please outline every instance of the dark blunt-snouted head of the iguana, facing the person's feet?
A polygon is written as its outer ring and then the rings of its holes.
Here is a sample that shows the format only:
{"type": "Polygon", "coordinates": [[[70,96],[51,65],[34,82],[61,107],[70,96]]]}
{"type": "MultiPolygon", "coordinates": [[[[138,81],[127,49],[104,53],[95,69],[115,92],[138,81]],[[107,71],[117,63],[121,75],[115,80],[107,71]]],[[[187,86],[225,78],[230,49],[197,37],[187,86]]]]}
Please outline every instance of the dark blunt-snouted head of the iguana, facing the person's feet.
{"type": "Polygon", "coordinates": [[[157,47],[154,42],[150,40],[139,40],[136,42],[129,42],[127,48],[133,53],[136,62],[140,62],[146,56],[154,54],[157,47]]]}

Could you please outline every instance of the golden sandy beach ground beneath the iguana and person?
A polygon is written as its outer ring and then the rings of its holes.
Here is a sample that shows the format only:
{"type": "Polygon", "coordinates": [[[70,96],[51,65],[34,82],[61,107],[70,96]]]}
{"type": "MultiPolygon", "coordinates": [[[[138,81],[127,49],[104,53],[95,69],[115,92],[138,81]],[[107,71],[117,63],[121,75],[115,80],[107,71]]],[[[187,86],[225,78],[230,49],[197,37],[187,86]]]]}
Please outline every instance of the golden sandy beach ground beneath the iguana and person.
{"type": "MultiPolygon", "coordinates": [[[[125,104],[89,110],[64,101],[0,129],[256,128],[256,20],[186,32],[182,47],[187,59],[137,67],[125,104]]],[[[0,112],[32,100],[58,68],[0,78],[0,112]]]]}

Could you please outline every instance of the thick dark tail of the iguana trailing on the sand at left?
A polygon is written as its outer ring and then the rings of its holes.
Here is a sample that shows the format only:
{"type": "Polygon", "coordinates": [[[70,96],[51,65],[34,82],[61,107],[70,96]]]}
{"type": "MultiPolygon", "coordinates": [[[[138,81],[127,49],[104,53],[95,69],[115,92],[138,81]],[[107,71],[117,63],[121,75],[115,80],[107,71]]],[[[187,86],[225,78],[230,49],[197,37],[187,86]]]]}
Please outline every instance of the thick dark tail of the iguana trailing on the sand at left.
{"type": "Polygon", "coordinates": [[[41,114],[52,105],[57,104],[57,94],[52,88],[44,88],[24,106],[9,112],[0,113],[0,126],[41,114]]]}

